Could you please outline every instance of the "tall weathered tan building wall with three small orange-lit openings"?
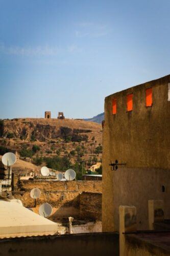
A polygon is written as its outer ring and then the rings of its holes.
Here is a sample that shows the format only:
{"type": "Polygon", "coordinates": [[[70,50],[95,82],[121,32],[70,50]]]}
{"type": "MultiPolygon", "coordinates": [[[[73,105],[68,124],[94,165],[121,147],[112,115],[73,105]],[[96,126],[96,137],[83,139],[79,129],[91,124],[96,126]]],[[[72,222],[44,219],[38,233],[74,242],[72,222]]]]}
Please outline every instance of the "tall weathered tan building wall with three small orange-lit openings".
{"type": "Polygon", "coordinates": [[[170,75],[105,99],[103,231],[117,231],[119,205],[135,205],[148,229],[148,200],[163,200],[170,218],[170,75]],[[125,163],[111,170],[110,161],[125,163]]]}

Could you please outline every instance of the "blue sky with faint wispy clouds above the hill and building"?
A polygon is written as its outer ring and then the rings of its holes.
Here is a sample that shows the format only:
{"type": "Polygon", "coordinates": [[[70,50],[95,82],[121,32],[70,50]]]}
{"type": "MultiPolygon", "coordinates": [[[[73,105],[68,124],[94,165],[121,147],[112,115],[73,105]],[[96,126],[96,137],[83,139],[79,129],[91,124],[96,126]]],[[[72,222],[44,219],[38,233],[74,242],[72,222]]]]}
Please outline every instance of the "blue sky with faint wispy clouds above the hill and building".
{"type": "Polygon", "coordinates": [[[0,118],[88,118],[170,73],[169,0],[0,0],[0,118]]]}

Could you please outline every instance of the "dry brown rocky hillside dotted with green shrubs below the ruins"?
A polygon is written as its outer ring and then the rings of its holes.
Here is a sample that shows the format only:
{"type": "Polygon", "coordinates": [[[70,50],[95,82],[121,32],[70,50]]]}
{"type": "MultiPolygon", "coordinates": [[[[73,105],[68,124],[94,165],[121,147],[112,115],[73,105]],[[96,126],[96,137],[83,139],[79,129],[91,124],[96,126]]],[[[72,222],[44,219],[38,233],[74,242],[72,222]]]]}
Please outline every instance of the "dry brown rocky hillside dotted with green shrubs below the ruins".
{"type": "Polygon", "coordinates": [[[77,119],[0,120],[0,155],[17,151],[20,159],[64,171],[102,158],[102,125],[77,119]],[[77,164],[75,166],[75,164],[77,164]]]}

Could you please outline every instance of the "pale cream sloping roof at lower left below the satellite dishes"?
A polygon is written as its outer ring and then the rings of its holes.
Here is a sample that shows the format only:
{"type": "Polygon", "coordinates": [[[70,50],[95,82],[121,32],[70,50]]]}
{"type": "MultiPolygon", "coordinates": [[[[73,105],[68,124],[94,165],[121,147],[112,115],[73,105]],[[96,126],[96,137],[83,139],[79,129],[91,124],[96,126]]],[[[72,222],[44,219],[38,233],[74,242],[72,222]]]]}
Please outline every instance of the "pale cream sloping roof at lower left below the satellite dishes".
{"type": "Polygon", "coordinates": [[[0,238],[56,234],[58,225],[22,206],[20,200],[0,200],[0,238]]]}

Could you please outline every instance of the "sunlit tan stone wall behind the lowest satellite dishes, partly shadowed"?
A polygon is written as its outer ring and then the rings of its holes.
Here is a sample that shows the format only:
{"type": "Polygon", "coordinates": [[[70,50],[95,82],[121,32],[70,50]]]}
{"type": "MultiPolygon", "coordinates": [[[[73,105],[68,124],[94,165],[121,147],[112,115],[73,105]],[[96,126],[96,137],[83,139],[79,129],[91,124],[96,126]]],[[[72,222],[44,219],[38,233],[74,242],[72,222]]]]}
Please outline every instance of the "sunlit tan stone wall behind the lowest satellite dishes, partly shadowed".
{"type": "Polygon", "coordinates": [[[101,220],[102,181],[21,180],[20,190],[15,191],[14,196],[22,201],[23,206],[33,208],[34,212],[38,212],[43,203],[51,204],[53,214],[50,219],[53,221],[70,216],[101,220]],[[41,190],[36,207],[35,200],[30,197],[30,191],[35,187],[41,190]],[[80,204],[81,209],[87,209],[84,214],[80,211],[80,204]]]}

